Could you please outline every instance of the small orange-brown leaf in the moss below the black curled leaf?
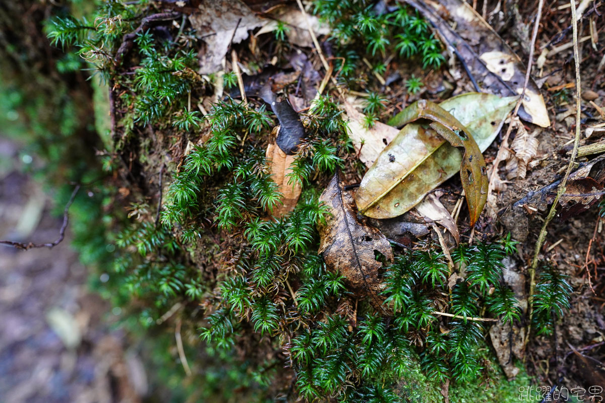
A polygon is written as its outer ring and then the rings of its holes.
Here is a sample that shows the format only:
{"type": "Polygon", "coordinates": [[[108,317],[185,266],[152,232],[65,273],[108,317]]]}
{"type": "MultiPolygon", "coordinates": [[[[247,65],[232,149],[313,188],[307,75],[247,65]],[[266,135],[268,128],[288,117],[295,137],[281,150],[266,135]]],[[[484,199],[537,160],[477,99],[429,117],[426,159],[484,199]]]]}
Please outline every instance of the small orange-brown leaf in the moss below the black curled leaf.
{"type": "Polygon", "coordinates": [[[279,186],[282,195],[281,202],[283,204],[273,207],[272,212],[273,217],[280,218],[294,210],[301,195],[301,185],[298,183],[288,184],[288,177],[286,176],[288,171],[291,170],[290,166],[294,162],[295,155],[287,155],[277,143],[270,143],[267,146],[266,158],[271,169],[271,179],[279,186]]]}

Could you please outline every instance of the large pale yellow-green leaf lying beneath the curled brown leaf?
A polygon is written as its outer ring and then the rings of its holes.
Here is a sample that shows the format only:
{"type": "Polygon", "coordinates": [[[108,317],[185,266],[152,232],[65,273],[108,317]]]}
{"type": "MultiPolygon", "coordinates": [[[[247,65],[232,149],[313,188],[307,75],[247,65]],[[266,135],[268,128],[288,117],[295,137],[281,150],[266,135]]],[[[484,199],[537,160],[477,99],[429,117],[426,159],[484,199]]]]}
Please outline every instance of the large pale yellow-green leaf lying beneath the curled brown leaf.
{"type": "MultiPolygon", "coordinates": [[[[500,98],[471,92],[450,98],[440,106],[468,129],[483,152],[500,131],[502,121],[516,100],[517,97],[500,98]]],[[[405,109],[389,123],[405,124],[413,114],[413,111],[405,109]]],[[[430,126],[407,124],[362,179],[355,195],[359,210],[379,219],[405,213],[422,201],[428,192],[456,174],[463,164],[462,156],[459,149],[448,144],[430,126]]],[[[472,161],[466,160],[465,165],[468,163],[472,161]]],[[[464,173],[467,174],[466,169],[464,173]]],[[[467,199],[469,206],[479,207],[482,197],[481,191],[473,192],[467,199]]],[[[479,213],[475,211],[471,221],[474,222],[479,213]]]]}

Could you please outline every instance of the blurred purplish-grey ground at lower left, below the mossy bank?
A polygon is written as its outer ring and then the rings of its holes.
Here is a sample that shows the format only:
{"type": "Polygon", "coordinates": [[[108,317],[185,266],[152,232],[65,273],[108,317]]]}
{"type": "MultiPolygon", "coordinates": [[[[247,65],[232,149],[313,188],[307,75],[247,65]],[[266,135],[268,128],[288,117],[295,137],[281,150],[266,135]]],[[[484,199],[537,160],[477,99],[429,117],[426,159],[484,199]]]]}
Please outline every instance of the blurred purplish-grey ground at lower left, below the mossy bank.
{"type": "MultiPolygon", "coordinates": [[[[50,242],[62,219],[21,157],[18,144],[0,138],[0,237],[50,242]]],[[[139,402],[143,364],[112,329],[115,316],[88,288],[70,240],[52,250],[0,247],[0,400],[139,402]]]]}

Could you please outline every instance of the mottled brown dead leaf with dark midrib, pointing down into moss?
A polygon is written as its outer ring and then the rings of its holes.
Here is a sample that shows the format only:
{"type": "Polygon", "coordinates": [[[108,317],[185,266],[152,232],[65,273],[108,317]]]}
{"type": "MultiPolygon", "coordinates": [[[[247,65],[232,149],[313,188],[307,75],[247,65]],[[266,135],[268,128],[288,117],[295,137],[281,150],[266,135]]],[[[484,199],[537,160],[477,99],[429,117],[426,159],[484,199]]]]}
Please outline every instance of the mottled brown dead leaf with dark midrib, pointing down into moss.
{"type": "Polygon", "coordinates": [[[374,309],[388,314],[388,308],[382,305],[385,300],[381,295],[383,265],[376,259],[378,255],[387,263],[392,262],[393,250],[381,231],[358,218],[353,196],[344,190],[339,176],[337,170],[319,198],[332,214],[325,224],[318,225],[319,253],[323,254],[329,270],[345,277],[349,291],[367,297],[374,309]]]}

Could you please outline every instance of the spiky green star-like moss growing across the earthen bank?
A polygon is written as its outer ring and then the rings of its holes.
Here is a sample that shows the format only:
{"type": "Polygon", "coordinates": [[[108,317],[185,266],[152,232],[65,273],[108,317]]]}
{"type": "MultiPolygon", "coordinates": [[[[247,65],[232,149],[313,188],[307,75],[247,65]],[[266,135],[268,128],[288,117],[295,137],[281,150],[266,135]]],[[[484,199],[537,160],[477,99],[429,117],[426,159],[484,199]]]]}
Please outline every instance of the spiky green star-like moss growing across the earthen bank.
{"type": "MultiPolygon", "coordinates": [[[[387,50],[419,56],[425,66],[443,60],[427,24],[408,8],[381,13],[364,2],[315,5],[333,26],[336,54],[345,57],[338,68],[352,86],[361,64],[350,51],[360,44],[378,74],[387,50]]],[[[228,95],[207,111],[195,109],[214,95],[215,79],[195,71],[199,49],[186,19],[137,29],[143,16],[165,11],[156,7],[103,2],[89,18],[94,26],[62,16],[49,22],[48,34],[77,50],[110,85],[113,144],[103,152],[103,167],[128,184],[116,201],[129,205],[129,217],[104,221],[121,230],[115,248],[105,247],[113,268],[103,288],[128,313],[131,329],[162,332],[160,324],[178,320],[189,329],[186,345],[204,346],[186,349],[203,382],[189,379],[179,393],[209,401],[241,392],[258,401],[433,402],[449,384],[456,401],[508,399],[516,384],[493,369],[485,326],[472,317],[519,320],[502,277],[502,260],[515,253],[515,243],[460,245],[453,259],[464,278],[452,285],[436,243],[396,249],[395,262],[384,268],[384,296],[394,314],[379,316],[317,254],[316,226],[327,214],[319,194],[336,169],[355,175],[338,100],[320,95],[301,114],[307,138],[287,177],[304,190],[293,211],[273,216],[281,193],[265,150],[275,117],[258,100],[228,95]],[[123,35],[133,32],[131,50],[118,54],[123,35]],[[498,385],[489,393],[480,386],[488,379],[498,385]],[[237,382],[240,392],[214,386],[227,382],[237,382]]],[[[270,40],[283,42],[284,30],[270,40]]],[[[223,82],[234,86],[234,74],[224,74],[223,82]]],[[[408,82],[410,90],[418,86],[408,82]]],[[[370,94],[368,126],[383,104],[370,94]]],[[[111,201],[103,202],[113,211],[111,201]]],[[[154,334],[162,343],[165,336],[154,334]]],[[[166,364],[166,384],[178,388],[180,369],[168,363],[181,356],[154,351],[154,361],[166,364]]]]}

